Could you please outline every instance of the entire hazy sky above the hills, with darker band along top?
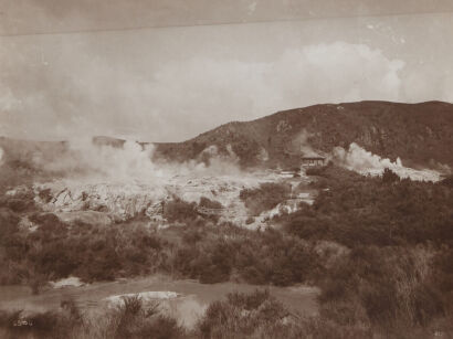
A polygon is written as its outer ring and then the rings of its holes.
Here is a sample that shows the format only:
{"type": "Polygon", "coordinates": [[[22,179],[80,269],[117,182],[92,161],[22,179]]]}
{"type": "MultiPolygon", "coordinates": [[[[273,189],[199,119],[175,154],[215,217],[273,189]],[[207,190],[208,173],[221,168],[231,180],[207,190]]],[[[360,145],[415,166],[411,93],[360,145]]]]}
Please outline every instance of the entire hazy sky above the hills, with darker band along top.
{"type": "Polygon", "coordinates": [[[180,141],[318,103],[453,102],[452,41],[451,0],[0,0],[0,135],[180,141]]]}

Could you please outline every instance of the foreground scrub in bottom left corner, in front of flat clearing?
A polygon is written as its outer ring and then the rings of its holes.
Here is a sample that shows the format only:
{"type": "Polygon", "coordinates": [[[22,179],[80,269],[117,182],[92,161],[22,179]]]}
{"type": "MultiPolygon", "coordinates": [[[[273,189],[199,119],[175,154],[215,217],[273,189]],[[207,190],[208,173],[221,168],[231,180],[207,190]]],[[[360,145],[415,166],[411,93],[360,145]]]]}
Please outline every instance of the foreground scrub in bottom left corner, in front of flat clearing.
{"type": "Polygon", "coordinates": [[[34,339],[182,339],[189,332],[177,320],[159,311],[159,305],[145,305],[139,297],[125,297],[105,314],[83,314],[71,299],[59,310],[22,316],[21,311],[0,311],[1,338],[34,339]]]}

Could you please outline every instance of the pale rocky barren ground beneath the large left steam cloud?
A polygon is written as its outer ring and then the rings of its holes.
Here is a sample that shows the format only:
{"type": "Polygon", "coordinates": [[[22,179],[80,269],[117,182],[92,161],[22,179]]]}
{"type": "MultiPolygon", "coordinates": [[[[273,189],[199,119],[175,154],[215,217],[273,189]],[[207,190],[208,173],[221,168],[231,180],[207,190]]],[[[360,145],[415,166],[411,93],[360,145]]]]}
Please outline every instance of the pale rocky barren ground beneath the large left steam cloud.
{"type": "MultiPolygon", "coordinates": [[[[162,202],[180,198],[199,202],[202,197],[220,202],[223,208],[202,213],[214,213],[223,221],[245,224],[249,218],[241,190],[257,187],[261,182],[288,181],[274,172],[263,171],[241,174],[176,174],[152,181],[95,181],[89,179],[62,179],[34,184],[35,201],[49,212],[65,221],[81,220],[103,224],[120,222],[145,213],[150,221],[165,225],[162,202]],[[107,221],[105,216],[108,216],[107,221]]],[[[301,181],[301,179],[298,179],[301,181]]],[[[14,193],[14,192],[11,192],[14,193]]],[[[312,202],[309,193],[284,202],[276,209],[259,215],[250,227],[255,227],[266,216],[275,215],[281,209],[291,212],[299,201],[312,202]]]]}

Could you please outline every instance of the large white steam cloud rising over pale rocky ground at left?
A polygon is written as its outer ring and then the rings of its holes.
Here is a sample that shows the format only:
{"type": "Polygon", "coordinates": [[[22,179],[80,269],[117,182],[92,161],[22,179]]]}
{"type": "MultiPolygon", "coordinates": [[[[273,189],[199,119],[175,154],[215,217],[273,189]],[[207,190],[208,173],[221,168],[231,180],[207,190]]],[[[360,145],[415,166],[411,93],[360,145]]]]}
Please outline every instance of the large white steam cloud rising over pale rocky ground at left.
{"type": "Polygon", "coordinates": [[[155,147],[125,141],[119,147],[96,145],[91,139],[69,142],[67,147],[49,159],[49,156],[35,153],[33,163],[36,168],[64,178],[103,181],[160,184],[173,176],[222,174],[240,171],[236,156],[228,148],[228,155],[220,155],[215,146],[201,152],[202,159],[183,163],[152,161],[155,147]],[[208,161],[203,161],[207,160],[208,161]]]}

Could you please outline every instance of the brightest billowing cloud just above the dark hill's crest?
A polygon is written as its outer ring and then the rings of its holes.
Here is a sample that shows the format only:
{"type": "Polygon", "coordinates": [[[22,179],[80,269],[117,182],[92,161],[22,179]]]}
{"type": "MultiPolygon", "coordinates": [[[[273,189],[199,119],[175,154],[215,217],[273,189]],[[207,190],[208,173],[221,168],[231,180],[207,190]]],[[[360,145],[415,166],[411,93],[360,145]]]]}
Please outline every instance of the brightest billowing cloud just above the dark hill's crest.
{"type": "Polygon", "coordinates": [[[336,42],[286,51],[276,65],[289,105],[399,98],[401,60],[365,44],[336,42]],[[293,89],[293,91],[292,91],[293,89]]]}

